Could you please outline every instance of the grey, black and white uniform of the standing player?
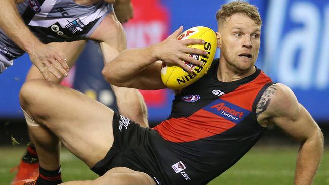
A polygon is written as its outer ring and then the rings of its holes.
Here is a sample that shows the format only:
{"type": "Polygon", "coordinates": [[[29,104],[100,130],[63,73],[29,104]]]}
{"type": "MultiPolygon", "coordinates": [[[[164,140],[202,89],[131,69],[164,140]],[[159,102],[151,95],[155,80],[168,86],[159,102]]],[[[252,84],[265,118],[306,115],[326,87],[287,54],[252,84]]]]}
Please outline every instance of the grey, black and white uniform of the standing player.
{"type": "MultiPolygon", "coordinates": [[[[26,0],[17,9],[34,35],[49,43],[88,39],[113,6],[103,0],[91,6],[74,0],[26,0]]],[[[24,53],[0,29],[0,73],[24,53]]]]}

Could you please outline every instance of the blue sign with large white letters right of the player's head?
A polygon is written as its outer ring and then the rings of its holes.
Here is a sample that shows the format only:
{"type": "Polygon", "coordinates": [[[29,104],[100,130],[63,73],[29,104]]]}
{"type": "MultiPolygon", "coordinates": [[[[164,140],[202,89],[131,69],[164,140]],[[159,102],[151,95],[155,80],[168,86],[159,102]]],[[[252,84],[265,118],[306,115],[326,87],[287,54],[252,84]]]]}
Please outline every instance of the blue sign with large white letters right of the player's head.
{"type": "Polygon", "coordinates": [[[269,1],[263,70],[292,88],[318,121],[329,120],[329,2],[269,1]]]}

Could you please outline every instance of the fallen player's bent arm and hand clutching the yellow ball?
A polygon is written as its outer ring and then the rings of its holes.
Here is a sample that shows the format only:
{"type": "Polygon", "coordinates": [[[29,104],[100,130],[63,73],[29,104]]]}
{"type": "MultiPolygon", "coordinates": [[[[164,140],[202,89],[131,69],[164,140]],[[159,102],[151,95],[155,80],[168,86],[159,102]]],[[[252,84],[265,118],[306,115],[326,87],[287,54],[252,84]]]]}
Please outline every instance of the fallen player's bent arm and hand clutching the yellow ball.
{"type": "Polygon", "coordinates": [[[128,49],[106,63],[102,73],[105,79],[116,86],[154,90],[166,88],[161,81],[161,61],[177,64],[191,71],[182,61],[200,65],[200,61],[186,53],[205,55],[204,50],[188,48],[188,45],[204,44],[200,39],[177,40],[180,27],[165,41],[140,49],[128,49]]]}

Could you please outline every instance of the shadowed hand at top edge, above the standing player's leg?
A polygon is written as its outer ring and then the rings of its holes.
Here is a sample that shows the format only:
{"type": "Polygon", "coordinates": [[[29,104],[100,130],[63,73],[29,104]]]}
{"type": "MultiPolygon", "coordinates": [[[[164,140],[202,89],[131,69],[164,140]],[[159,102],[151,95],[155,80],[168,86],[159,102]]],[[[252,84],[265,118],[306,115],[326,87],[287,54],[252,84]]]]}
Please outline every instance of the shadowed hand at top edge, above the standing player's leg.
{"type": "Polygon", "coordinates": [[[121,23],[125,23],[133,17],[133,5],[130,0],[116,0],[113,7],[115,15],[121,23]]]}

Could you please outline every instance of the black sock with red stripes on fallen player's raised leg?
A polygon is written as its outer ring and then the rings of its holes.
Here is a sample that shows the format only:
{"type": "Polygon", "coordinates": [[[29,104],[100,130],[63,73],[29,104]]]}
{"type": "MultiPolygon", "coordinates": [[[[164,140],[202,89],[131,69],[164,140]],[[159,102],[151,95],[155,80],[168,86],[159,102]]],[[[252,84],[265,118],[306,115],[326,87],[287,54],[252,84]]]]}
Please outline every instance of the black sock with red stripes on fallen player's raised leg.
{"type": "Polygon", "coordinates": [[[40,167],[40,174],[35,185],[56,185],[60,183],[63,183],[61,177],[61,167],[52,171],[45,170],[40,167]]]}

